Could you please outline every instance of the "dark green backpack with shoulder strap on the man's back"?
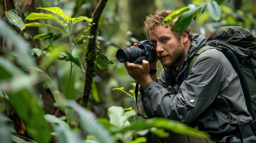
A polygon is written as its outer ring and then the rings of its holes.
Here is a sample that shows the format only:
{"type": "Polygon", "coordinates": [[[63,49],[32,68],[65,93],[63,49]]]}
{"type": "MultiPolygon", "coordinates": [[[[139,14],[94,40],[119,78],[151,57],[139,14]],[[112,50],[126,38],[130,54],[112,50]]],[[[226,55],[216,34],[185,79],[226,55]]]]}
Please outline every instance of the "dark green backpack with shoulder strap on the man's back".
{"type": "MultiPolygon", "coordinates": [[[[195,59],[207,49],[222,51],[238,73],[249,113],[256,119],[256,37],[248,29],[239,26],[224,26],[214,31],[207,39],[209,46],[201,47],[189,60],[187,74],[195,59]]],[[[229,113],[230,114],[230,113],[229,113]]],[[[238,121],[236,115],[231,114],[238,121]]],[[[239,121],[238,121],[239,122],[239,121]]],[[[238,123],[239,124],[239,123],[238,123]]],[[[256,131],[256,122],[251,124],[256,131]]],[[[240,125],[239,125],[240,127],[240,125]]],[[[242,134],[242,132],[241,132],[242,134]]],[[[224,143],[224,141],[223,141],[224,143]]]]}

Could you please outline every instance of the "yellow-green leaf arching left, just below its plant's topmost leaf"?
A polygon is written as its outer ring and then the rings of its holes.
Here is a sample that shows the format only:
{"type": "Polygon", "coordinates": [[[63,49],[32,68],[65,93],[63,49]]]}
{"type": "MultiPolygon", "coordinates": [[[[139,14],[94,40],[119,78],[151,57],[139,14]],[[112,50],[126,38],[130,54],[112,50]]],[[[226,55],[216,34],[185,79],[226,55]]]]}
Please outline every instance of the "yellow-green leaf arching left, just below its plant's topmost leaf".
{"type": "Polygon", "coordinates": [[[32,12],[29,15],[27,15],[27,17],[25,18],[25,20],[38,20],[38,19],[55,20],[55,21],[59,22],[62,26],[67,28],[67,25],[62,20],[59,20],[58,18],[56,18],[56,16],[54,16],[52,14],[32,12]]]}

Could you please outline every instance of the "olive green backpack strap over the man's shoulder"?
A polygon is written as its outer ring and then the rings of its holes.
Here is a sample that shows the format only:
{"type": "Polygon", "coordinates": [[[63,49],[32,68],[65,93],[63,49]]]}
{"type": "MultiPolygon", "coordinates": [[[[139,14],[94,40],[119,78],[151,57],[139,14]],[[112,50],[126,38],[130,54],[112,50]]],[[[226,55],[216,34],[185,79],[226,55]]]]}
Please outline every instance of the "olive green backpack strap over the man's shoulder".
{"type": "Polygon", "coordinates": [[[202,46],[201,48],[198,49],[198,51],[195,53],[195,55],[193,55],[191,57],[191,59],[189,59],[189,63],[187,65],[187,69],[186,69],[186,77],[189,76],[189,73],[191,71],[191,68],[195,62],[195,59],[198,58],[198,56],[203,53],[204,51],[208,50],[208,49],[211,49],[211,48],[216,48],[216,47],[213,47],[213,46],[202,46]]]}

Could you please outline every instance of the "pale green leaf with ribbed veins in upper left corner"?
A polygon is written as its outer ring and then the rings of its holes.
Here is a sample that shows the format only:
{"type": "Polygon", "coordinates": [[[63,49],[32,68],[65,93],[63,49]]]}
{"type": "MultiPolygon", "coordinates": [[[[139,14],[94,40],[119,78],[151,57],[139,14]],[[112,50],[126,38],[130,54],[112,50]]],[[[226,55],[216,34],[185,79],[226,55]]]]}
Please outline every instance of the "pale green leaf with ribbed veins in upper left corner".
{"type": "Polygon", "coordinates": [[[5,16],[12,25],[17,26],[21,31],[25,29],[25,27],[22,27],[22,25],[24,25],[24,22],[18,15],[16,15],[15,12],[7,11],[5,12],[5,16]]]}

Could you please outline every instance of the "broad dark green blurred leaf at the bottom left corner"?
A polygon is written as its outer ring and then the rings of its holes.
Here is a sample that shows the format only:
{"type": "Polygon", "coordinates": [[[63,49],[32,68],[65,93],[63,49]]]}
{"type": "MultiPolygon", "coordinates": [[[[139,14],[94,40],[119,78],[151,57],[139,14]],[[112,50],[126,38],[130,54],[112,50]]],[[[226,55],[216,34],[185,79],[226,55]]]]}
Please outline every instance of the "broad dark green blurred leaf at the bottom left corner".
{"type": "Polygon", "coordinates": [[[38,106],[38,101],[34,98],[35,95],[33,94],[35,93],[27,89],[8,93],[11,105],[22,121],[24,121],[26,130],[32,139],[40,143],[49,143],[51,130],[43,118],[44,112],[38,106]]]}

